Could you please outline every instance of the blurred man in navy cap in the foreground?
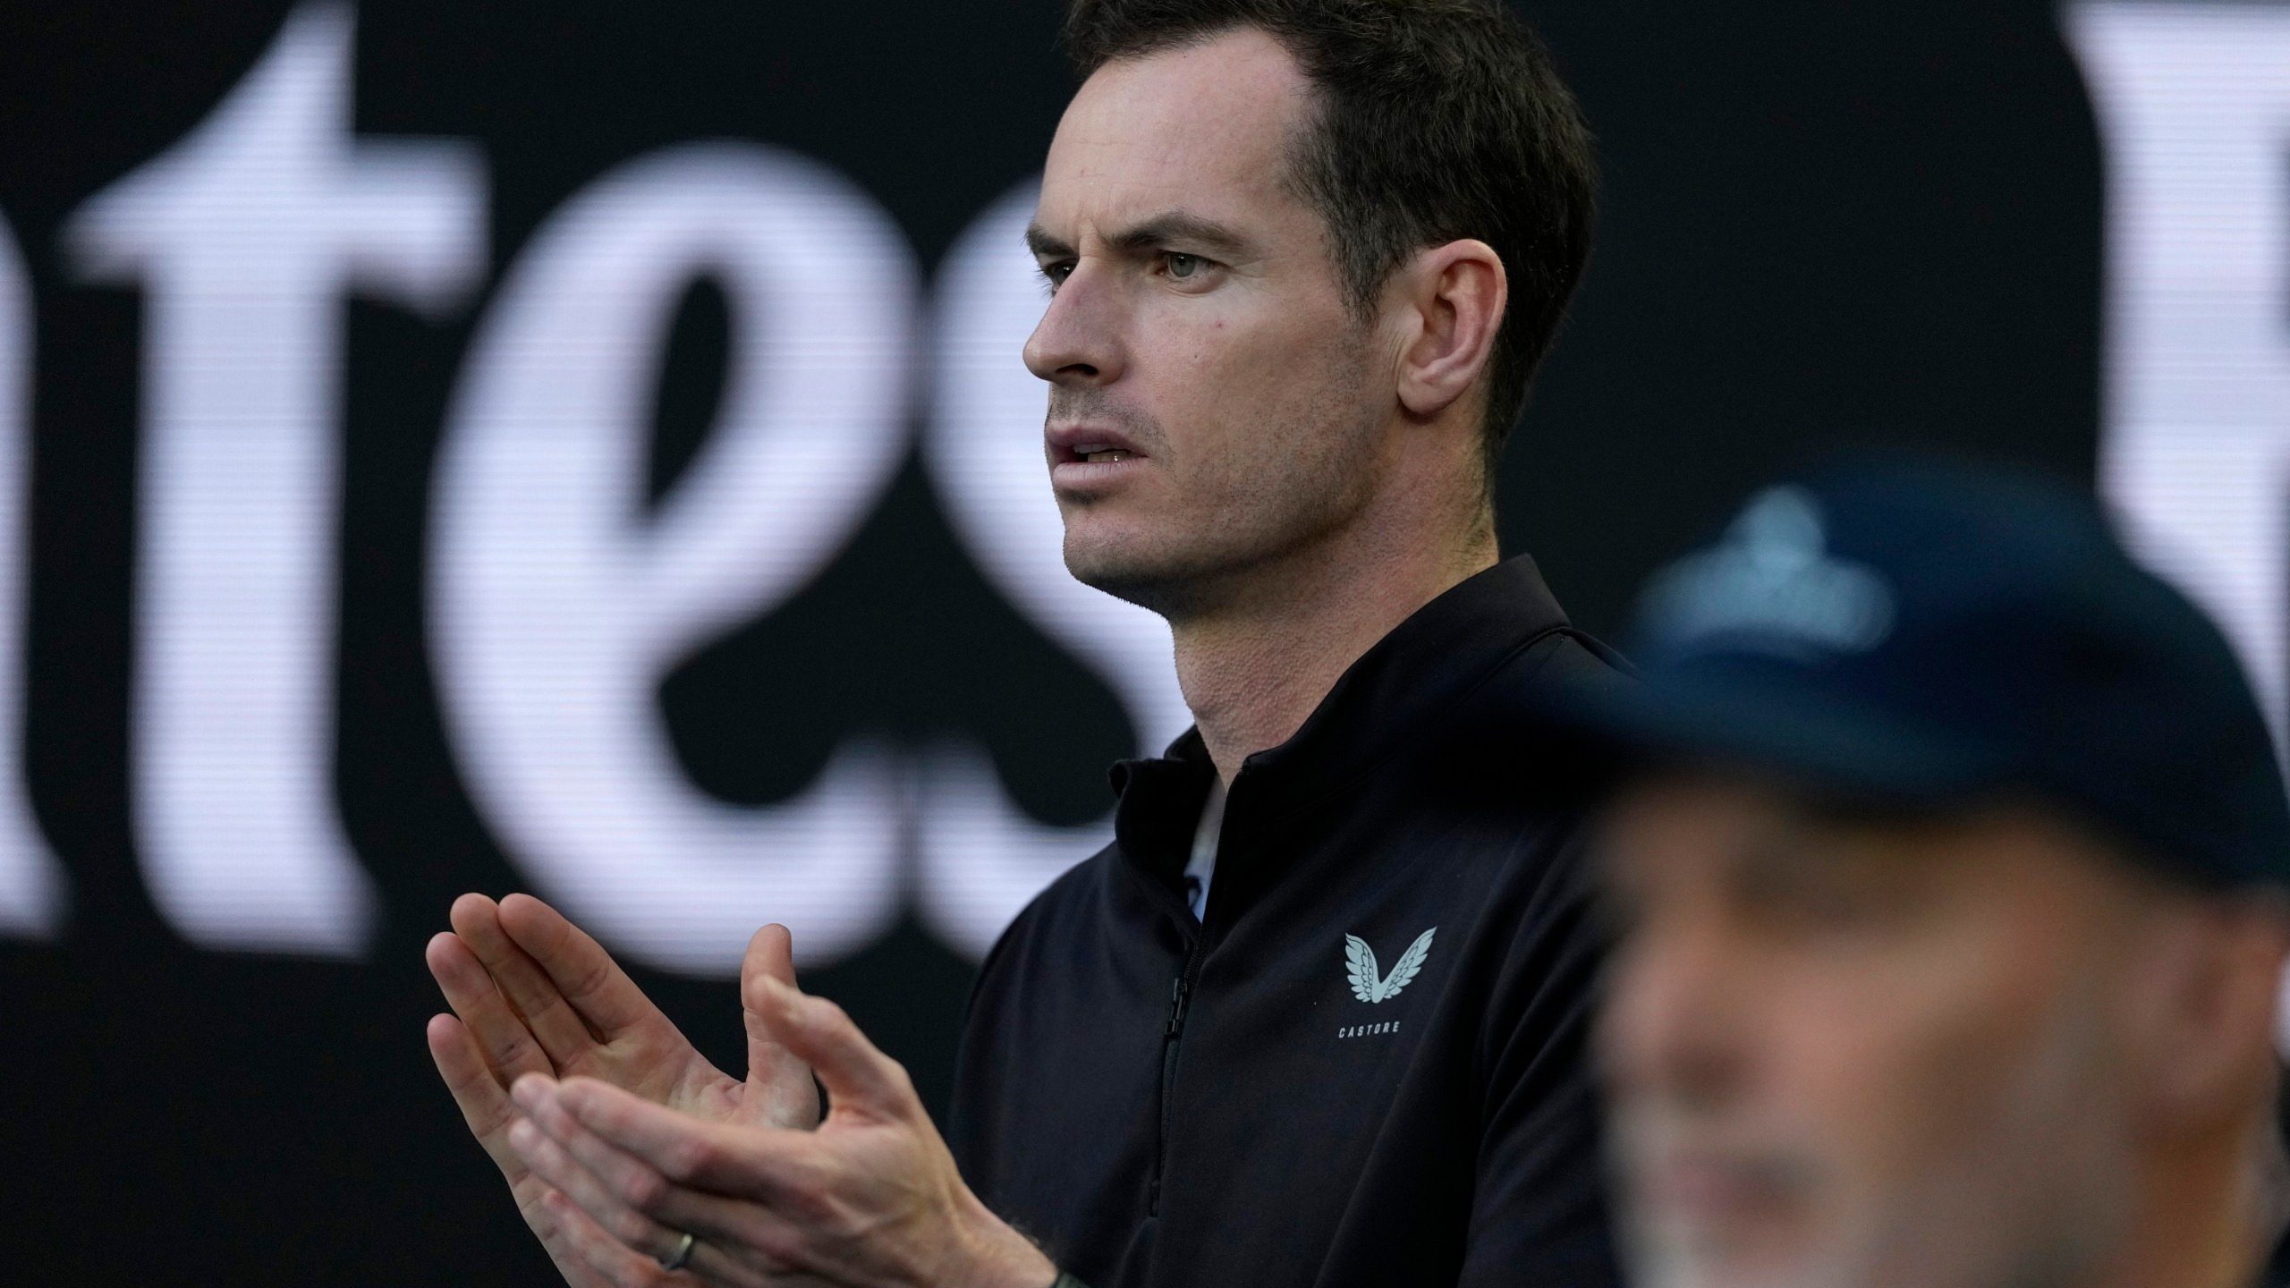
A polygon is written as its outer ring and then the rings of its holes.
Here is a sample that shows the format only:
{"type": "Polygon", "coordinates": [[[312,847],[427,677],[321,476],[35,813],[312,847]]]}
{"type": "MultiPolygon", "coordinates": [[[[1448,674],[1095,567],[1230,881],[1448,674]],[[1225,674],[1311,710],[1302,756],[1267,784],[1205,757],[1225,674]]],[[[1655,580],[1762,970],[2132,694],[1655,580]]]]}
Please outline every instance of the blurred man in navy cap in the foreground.
{"type": "Polygon", "coordinates": [[[1601,1013],[1644,1288],[2244,1288],[2283,1226],[2290,814],[2088,500],[1862,461],[1647,594],[1601,1013]]]}

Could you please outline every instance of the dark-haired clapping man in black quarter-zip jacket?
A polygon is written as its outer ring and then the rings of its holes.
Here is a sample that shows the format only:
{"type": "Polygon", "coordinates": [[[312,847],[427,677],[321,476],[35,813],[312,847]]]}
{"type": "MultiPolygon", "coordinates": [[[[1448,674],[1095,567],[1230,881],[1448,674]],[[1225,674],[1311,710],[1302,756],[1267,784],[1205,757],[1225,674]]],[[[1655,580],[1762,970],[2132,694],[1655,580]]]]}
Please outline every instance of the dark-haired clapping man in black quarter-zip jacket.
{"type": "Polygon", "coordinates": [[[948,1141],[781,928],[740,1079],[552,910],[465,896],[437,1066],[579,1286],[1605,1286],[1580,811],[1411,770],[1605,665],[1491,500],[1589,254],[1576,103],[1500,0],[1079,0],[1067,44],[1047,484],[1198,724],[987,958],[948,1141]]]}

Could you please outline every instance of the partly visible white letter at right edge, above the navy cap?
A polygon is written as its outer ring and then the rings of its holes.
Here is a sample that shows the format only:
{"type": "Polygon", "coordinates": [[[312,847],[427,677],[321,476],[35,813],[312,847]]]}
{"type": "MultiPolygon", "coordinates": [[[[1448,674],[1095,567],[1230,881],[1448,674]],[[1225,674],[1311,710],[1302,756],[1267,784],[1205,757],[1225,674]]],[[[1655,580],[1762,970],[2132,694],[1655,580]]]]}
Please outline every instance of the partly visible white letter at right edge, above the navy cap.
{"type": "Polygon", "coordinates": [[[2100,486],[2276,738],[2290,575],[2290,9],[2066,11],[2107,140],[2100,486]]]}

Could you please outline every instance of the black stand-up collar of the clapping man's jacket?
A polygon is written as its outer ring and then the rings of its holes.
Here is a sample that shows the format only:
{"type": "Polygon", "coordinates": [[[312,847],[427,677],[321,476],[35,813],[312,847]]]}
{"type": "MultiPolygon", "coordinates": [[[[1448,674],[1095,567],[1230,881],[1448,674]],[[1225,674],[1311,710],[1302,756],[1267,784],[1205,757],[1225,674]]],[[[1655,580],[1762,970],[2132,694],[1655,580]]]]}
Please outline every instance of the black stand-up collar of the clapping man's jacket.
{"type": "MultiPolygon", "coordinates": [[[[1342,798],[1436,733],[1511,655],[1562,626],[1566,614],[1525,555],[1415,610],[1335,681],[1294,738],[1248,756],[1225,800],[1225,850],[1342,798]]],[[[1122,855],[1175,885],[1214,777],[1198,729],[1161,759],[1113,765],[1122,855]]]]}

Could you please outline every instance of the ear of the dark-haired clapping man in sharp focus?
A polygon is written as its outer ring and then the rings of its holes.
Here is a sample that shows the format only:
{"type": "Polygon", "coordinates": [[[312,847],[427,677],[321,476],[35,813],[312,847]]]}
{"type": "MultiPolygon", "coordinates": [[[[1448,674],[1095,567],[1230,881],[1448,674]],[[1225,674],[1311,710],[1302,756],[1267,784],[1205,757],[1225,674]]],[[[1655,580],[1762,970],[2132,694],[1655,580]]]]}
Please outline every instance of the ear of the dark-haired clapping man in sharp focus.
{"type": "Polygon", "coordinates": [[[1450,241],[1392,275],[1401,309],[1399,406],[1431,419],[1454,406],[1495,360],[1511,282],[1484,241],[1450,241]]]}

